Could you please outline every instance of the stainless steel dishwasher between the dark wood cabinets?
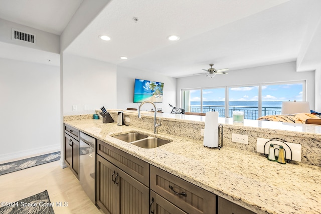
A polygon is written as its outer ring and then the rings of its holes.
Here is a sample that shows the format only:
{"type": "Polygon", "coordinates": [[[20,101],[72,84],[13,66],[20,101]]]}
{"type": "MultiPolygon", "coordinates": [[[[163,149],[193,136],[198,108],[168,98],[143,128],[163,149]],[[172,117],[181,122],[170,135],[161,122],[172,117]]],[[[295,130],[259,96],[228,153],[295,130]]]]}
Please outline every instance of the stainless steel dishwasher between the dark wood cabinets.
{"type": "Polygon", "coordinates": [[[82,132],[79,136],[79,181],[90,200],[95,203],[96,139],[82,132]]]}

